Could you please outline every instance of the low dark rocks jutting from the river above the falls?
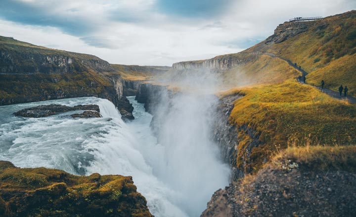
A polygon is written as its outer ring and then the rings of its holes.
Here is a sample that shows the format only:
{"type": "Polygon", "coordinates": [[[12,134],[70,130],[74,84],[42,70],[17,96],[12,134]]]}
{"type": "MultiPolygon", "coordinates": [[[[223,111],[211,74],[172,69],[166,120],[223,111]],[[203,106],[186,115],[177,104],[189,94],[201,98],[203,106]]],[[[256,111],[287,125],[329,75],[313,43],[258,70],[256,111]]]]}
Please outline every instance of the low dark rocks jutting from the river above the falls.
{"type": "MultiPolygon", "coordinates": [[[[92,110],[97,113],[96,116],[98,115],[100,117],[100,109],[98,105],[78,105],[74,107],[69,107],[69,106],[51,104],[51,105],[21,109],[19,111],[14,112],[13,114],[15,116],[21,116],[21,117],[38,118],[38,117],[46,117],[46,116],[50,116],[66,111],[71,111],[71,110],[92,110]]],[[[87,112],[87,114],[89,113],[87,112]]]]}

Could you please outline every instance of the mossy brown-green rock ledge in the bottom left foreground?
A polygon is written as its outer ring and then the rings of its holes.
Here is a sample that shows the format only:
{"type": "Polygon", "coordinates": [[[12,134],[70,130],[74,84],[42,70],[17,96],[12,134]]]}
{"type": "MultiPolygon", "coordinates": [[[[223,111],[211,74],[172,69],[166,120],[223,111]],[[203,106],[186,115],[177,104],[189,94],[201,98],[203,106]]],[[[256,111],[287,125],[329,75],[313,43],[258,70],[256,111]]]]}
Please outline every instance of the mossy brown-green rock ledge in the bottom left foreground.
{"type": "Polygon", "coordinates": [[[0,161],[0,216],[153,217],[132,177],[74,176],[0,161]]]}

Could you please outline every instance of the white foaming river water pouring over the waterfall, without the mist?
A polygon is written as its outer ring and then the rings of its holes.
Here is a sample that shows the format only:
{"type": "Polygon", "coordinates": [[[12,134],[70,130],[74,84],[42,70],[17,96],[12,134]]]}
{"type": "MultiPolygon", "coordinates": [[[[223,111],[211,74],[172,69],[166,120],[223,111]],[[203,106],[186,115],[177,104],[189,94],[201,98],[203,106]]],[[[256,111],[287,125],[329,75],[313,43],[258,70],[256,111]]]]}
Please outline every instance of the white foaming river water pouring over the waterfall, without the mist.
{"type": "MultiPolygon", "coordinates": [[[[47,167],[72,174],[132,176],[156,217],[187,217],[175,204],[180,194],[153,175],[132,129],[115,106],[98,98],[73,98],[0,107],[0,160],[18,167],[47,167]],[[19,109],[48,104],[97,104],[102,118],[73,119],[67,112],[43,118],[14,117],[19,109]]],[[[149,127],[149,123],[148,126],[149,127]]]]}

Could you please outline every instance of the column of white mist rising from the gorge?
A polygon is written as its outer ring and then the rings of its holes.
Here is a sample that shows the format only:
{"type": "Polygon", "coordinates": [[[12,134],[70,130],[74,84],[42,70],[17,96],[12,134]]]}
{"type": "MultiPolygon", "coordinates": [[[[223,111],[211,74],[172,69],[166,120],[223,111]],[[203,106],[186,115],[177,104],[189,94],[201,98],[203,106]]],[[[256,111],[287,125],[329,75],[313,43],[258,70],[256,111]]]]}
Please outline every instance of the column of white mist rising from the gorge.
{"type": "Polygon", "coordinates": [[[222,80],[210,70],[176,73],[153,102],[152,127],[164,146],[163,164],[154,174],[181,193],[178,201],[189,216],[200,216],[212,194],[228,184],[229,168],[220,159],[212,127],[222,80]]]}

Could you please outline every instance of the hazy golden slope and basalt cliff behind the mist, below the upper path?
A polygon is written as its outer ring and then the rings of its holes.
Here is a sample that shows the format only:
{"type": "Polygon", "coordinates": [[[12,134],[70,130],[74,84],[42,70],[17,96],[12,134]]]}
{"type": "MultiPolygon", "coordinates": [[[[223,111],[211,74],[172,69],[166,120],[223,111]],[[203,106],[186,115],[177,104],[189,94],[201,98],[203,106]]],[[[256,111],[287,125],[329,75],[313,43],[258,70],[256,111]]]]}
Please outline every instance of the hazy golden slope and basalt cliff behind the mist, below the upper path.
{"type": "Polygon", "coordinates": [[[227,54],[181,64],[183,67],[174,66],[166,72],[161,82],[182,81],[180,83],[191,83],[191,86],[194,86],[196,80],[202,79],[218,85],[221,89],[229,89],[252,84],[280,83],[302,74],[281,59],[257,53],[227,54]],[[233,66],[226,69],[204,67],[211,64],[217,64],[219,67],[233,66]]]}

